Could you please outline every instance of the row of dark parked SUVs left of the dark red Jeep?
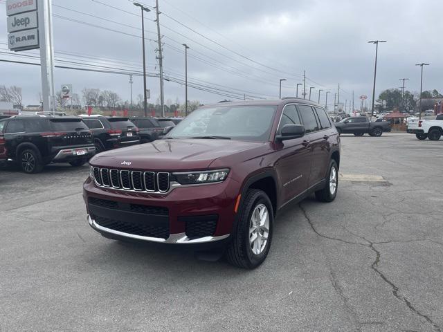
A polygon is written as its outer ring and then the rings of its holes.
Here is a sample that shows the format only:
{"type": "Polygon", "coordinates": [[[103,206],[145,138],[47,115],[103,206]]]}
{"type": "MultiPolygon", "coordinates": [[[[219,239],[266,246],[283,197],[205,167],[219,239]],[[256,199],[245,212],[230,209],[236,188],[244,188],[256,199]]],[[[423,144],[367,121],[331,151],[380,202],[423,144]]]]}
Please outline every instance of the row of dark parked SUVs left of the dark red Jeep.
{"type": "Polygon", "coordinates": [[[181,118],[52,116],[37,112],[0,120],[0,164],[17,163],[25,173],[48,163],[80,167],[94,154],[152,142],[181,118]]]}

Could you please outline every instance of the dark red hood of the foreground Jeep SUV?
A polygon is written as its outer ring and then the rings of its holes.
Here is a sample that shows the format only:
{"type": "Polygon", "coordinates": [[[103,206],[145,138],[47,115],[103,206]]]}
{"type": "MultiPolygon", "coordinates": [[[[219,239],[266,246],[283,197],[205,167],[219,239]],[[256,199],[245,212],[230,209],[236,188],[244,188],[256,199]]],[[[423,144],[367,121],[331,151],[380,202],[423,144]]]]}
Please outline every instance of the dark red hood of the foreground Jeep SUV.
{"type": "Polygon", "coordinates": [[[239,153],[242,155],[242,151],[268,144],[239,140],[155,140],[146,144],[102,152],[94,156],[90,164],[98,167],[154,171],[207,169],[218,158],[239,153]]]}

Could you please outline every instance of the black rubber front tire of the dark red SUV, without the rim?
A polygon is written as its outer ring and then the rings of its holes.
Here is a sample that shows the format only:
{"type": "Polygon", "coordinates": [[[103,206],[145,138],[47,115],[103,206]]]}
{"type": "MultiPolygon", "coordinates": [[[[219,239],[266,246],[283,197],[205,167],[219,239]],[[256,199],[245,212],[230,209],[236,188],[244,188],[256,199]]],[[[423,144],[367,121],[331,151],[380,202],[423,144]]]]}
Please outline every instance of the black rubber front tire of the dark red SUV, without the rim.
{"type": "MultiPolygon", "coordinates": [[[[230,264],[239,268],[256,268],[263,263],[271,247],[273,234],[273,208],[268,195],[262,190],[248,190],[242,206],[239,209],[238,219],[233,227],[231,241],[226,250],[226,259],[230,264]],[[264,205],[269,216],[269,233],[264,247],[258,255],[253,253],[250,243],[250,223],[252,214],[259,205],[264,205]]],[[[261,232],[259,230],[259,232],[261,232]]]]}

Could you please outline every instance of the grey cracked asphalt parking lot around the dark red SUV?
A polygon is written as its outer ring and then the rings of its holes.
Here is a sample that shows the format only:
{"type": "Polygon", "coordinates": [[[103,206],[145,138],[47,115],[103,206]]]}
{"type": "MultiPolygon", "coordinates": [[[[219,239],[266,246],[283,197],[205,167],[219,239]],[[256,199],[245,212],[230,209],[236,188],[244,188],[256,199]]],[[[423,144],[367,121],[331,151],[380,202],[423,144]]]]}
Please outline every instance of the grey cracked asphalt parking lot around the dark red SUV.
{"type": "Polygon", "coordinates": [[[101,237],[87,165],[0,171],[0,331],[442,331],[442,140],[342,148],[336,200],[281,214],[255,270],[101,237]]]}

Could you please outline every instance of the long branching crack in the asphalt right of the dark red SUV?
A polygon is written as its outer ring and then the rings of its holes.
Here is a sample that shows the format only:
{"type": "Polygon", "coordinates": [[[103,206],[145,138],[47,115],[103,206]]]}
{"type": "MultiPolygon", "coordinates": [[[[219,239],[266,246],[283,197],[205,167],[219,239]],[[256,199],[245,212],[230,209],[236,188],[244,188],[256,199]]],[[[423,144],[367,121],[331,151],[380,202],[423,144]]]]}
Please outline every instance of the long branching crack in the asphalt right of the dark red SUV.
{"type": "MultiPolygon", "coordinates": [[[[394,295],[397,299],[399,299],[399,301],[404,302],[406,304],[406,306],[409,308],[409,310],[412,311],[413,313],[415,313],[415,315],[418,315],[418,316],[424,318],[426,320],[426,322],[428,322],[429,324],[431,324],[433,326],[433,329],[435,331],[442,332],[442,329],[440,328],[440,326],[438,326],[437,323],[433,322],[433,320],[431,320],[431,317],[429,317],[428,315],[425,315],[424,313],[419,312],[418,309],[415,308],[413,306],[413,304],[411,304],[410,301],[404,295],[399,295],[399,288],[397,286],[395,286],[395,284],[393,282],[391,282],[390,279],[388,279],[388,277],[386,277],[386,275],[384,275],[381,272],[381,270],[379,270],[379,262],[380,262],[381,253],[379,252],[379,250],[377,250],[377,248],[374,247],[374,244],[385,244],[385,243],[392,243],[392,242],[406,242],[407,243],[407,242],[413,242],[413,241],[426,241],[428,239],[392,240],[392,241],[383,241],[383,242],[372,242],[372,241],[369,241],[368,239],[365,239],[365,237],[354,235],[356,237],[359,237],[360,239],[363,239],[364,241],[366,241],[366,243],[368,243],[368,244],[363,244],[363,243],[358,243],[358,242],[345,241],[343,239],[338,239],[335,237],[328,237],[327,235],[320,234],[320,232],[318,232],[318,230],[316,230],[316,228],[314,227],[314,224],[312,223],[311,219],[307,215],[305,208],[302,207],[301,203],[299,203],[298,206],[299,206],[300,210],[303,212],[305,219],[307,220],[307,222],[311,226],[311,229],[319,237],[323,237],[325,239],[329,239],[332,241],[339,241],[339,242],[343,242],[343,243],[347,243],[347,244],[353,244],[356,246],[364,246],[366,248],[370,248],[376,254],[375,260],[371,264],[371,268],[372,268],[372,270],[374,270],[375,273],[377,273],[377,275],[379,275],[379,277],[381,277],[381,279],[383,279],[384,282],[386,282],[386,284],[388,284],[392,288],[392,295],[394,295]]],[[[349,230],[348,230],[348,232],[349,232],[349,230]]],[[[351,234],[353,234],[353,233],[351,233],[351,234]]],[[[333,286],[334,286],[334,284],[333,284],[333,286]]],[[[334,286],[334,288],[335,288],[335,286],[334,286]]]]}

